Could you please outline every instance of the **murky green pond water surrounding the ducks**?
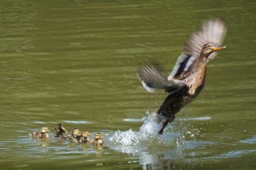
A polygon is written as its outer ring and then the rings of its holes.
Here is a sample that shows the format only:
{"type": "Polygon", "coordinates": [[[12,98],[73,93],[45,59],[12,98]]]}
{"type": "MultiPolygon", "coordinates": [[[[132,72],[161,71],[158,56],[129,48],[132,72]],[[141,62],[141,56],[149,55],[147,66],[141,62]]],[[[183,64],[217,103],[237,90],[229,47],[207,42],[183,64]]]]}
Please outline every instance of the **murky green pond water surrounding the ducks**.
{"type": "Polygon", "coordinates": [[[229,0],[1,0],[1,169],[255,169],[255,9],[229,0]],[[227,21],[228,49],[209,63],[206,88],[169,136],[140,140],[140,119],[166,94],[147,93],[136,64],[159,61],[168,75],[211,17],[227,21]],[[57,123],[102,132],[105,144],[54,139],[57,123]],[[50,138],[30,139],[42,125],[50,138]]]}

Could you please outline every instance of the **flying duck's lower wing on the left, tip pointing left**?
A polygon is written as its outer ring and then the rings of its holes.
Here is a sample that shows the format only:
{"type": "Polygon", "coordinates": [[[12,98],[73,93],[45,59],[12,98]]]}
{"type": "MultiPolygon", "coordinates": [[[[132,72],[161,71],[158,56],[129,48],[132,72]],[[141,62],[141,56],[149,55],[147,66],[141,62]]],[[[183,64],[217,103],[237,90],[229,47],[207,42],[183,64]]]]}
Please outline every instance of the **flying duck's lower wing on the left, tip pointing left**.
{"type": "Polygon", "coordinates": [[[184,85],[187,85],[181,80],[168,80],[156,66],[151,66],[147,63],[138,65],[138,77],[143,87],[150,93],[153,93],[156,89],[179,90],[184,85]]]}

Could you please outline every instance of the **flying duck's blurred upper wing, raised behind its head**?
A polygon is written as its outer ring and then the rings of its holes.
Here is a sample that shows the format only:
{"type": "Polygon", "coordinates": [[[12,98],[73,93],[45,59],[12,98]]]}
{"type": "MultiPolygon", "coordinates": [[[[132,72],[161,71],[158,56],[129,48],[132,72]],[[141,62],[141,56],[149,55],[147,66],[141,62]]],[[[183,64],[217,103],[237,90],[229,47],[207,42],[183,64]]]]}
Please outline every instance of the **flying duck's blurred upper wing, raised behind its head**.
{"type": "MultiPolygon", "coordinates": [[[[170,73],[168,80],[173,78],[180,80],[182,77],[186,77],[187,74],[194,72],[193,68],[195,68],[198,62],[203,45],[208,43],[222,45],[226,31],[225,22],[221,19],[217,18],[203,23],[202,29],[194,32],[189,37],[184,47],[184,53],[178,57],[176,66],[174,66],[173,72],[170,73]]],[[[216,52],[211,53],[207,61],[211,61],[216,55],[216,52]]]]}

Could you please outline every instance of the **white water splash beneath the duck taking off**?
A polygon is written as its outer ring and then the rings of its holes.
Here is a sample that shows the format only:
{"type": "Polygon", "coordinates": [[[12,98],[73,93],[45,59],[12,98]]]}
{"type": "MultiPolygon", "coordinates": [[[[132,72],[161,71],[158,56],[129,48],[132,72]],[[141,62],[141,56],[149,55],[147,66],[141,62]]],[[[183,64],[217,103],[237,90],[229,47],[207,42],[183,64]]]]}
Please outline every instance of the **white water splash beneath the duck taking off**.
{"type": "Polygon", "coordinates": [[[165,133],[158,134],[159,129],[162,127],[162,123],[158,123],[155,119],[154,113],[149,114],[143,118],[143,125],[140,127],[140,131],[116,131],[113,136],[110,137],[110,142],[114,142],[114,150],[124,150],[126,152],[135,152],[135,148],[144,150],[146,147],[152,145],[158,146],[176,146],[178,144],[184,144],[183,133],[174,133],[173,125],[167,125],[165,133]],[[128,148],[130,147],[130,151],[128,148]]]}

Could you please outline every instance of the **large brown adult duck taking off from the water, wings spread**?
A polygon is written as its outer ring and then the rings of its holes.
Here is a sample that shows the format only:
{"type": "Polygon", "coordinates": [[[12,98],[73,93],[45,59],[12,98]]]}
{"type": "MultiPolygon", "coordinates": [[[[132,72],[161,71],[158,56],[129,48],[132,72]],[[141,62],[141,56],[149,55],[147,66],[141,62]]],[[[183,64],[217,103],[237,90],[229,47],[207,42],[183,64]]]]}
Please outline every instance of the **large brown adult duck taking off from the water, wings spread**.
{"type": "Polygon", "coordinates": [[[208,20],[203,28],[190,36],[169,77],[163,76],[157,66],[138,65],[138,77],[149,92],[164,89],[167,98],[154,115],[162,123],[159,134],[175,119],[180,109],[193,101],[203,90],[206,81],[206,63],[214,59],[215,51],[225,49],[222,44],[226,34],[225,22],[208,20]]]}

